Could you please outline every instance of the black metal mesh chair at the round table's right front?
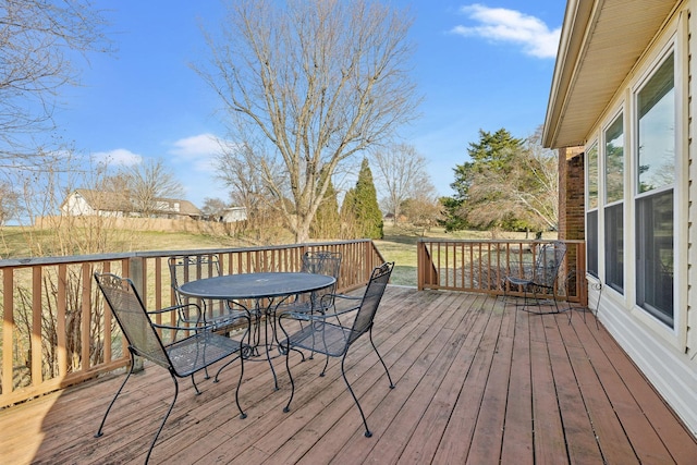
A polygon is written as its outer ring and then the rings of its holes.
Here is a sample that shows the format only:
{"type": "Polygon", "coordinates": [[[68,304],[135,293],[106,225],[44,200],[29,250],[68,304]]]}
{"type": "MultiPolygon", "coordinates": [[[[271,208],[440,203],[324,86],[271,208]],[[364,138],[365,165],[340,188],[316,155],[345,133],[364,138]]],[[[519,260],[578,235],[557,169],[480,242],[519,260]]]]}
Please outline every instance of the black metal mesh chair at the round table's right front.
{"type": "MultiPolygon", "coordinates": [[[[394,388],[388,366],[372,341],[375,315],[378,310],[378,306],[380,305],[380,299],[382,298],[393,268],[394,262],[388,262],[372,270],[370,281],[366,286],[363,297],[358,299],[351,299],[350,302],[352,305],[348,308],[326,314],[284,311],[279,315],[279,326],[285,336],[280,344],[282,352],[285,353],[285,367],[289,378],[291,379],[291,397],[283,408],[284,412],[290,412],[291,402],[293,401],[293,395],[295,393],[295,381],[291,375],[290,365],[291,350],[305,348],[327,355],[327,360],[325,362],[325,367],[322,368],[320,376],[323,376],[327,370],[329,357],[341,357],[341,375],[343,376],[344,382],[348,388],[348,392],[353,396],[353,400],[358,407],[358,412],[360,413],[360,417],[363,418],[363,424],[366,428],[365,436],[367,438],[372,436],[372,432],[370,432],[370,429],[368,428],[366,416],[360,407],[360,403],[358,402],[358,397],[354,393],[353,388],[348,382],[348,378],[346,377],[345,362],[346,354],[348,353],[351,345],[363,334],[368,333],[370,344],[372,345],[375,353],[378,355],[378,358],[384,368],[384,372],[388,376],[390,388],[394,388]],[[351,323],[342,323],[342,321],[339,320],[339,316],[341,316],[344,321],[351,320],[351,323]],[[296,329],[296,332],[290,333],[289,331],[291,326],[293,326],[293,321],[306,325],[295,325],[294,328],[296,329]],[[299,329],[297,330],[298,326],[299,329]]],[[[339,304],[339,301],[344,299],[344,296],[337,295],[337,303],[339,304]]]]}

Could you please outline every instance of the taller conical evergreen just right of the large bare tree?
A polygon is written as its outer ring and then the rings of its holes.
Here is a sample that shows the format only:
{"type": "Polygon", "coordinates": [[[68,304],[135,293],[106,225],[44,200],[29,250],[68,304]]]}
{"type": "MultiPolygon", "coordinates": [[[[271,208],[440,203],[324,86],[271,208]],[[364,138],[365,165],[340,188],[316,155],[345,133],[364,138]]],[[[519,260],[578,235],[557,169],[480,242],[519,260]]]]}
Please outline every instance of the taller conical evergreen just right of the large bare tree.
{"type": "Polygon", "coordinates": [[[382,212],[378,206],[372,173],[368,160],[363,159],[356,186],[344,197],[341,216],[347,229],[347,235],[354,237],[382,238],[382,212]]]}

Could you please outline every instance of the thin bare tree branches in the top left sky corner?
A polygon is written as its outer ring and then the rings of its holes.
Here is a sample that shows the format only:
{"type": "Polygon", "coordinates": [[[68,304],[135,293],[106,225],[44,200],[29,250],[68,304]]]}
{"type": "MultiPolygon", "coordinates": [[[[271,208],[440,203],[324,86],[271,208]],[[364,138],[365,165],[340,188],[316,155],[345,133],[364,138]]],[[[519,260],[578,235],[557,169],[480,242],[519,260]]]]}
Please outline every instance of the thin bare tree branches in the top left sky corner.
{"type": "Polygon", "coordinates": [[[36,138],[52,129],[56,96],[77,83],[76,53],[106,51],[89,0],[0,1],[0,169],[42,164],[36,138]]]}

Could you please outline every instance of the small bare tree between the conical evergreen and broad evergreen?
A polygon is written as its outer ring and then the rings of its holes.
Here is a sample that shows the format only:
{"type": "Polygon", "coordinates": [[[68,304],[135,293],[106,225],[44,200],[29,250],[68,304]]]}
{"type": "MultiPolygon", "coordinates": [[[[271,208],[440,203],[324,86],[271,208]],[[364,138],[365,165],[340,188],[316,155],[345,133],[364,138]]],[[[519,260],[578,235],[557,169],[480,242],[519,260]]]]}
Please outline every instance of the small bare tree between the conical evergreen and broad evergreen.
{"type": "Polygon", "coordinates": [[[416,148],[400,144],[389,149],[374,151],[378,167],[378,191],[383,196],[383,208],[394,215],[396,224],[402,213],[402,204],[408,198],[432,196],[436,188],[426,172],[426,159],[416,148]]]}

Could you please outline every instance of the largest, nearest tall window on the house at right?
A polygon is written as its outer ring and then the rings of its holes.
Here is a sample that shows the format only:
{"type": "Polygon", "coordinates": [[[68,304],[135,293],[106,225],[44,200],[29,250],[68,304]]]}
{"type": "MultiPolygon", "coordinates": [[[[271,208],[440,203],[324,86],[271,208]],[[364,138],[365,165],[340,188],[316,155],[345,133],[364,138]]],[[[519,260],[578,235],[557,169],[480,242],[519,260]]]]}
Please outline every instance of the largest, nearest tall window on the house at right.
{"type": "Polygon", "coordinates": [[[673,53],[636,95],[636,302],[673,326],[673,183],[675,91],[673,53]]]}

